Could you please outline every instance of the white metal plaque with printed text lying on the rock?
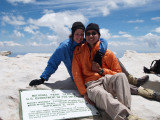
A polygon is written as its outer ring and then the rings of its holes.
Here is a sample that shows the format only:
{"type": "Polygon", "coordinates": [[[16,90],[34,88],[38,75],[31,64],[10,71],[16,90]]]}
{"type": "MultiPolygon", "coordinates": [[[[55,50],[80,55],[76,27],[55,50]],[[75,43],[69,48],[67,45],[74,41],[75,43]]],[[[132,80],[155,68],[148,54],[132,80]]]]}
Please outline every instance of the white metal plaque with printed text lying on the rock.
{"type": "Polygon", "coordinates": [[[20,90],[22,120],[58,120],[98,115],[77,90],[20,90]]]}

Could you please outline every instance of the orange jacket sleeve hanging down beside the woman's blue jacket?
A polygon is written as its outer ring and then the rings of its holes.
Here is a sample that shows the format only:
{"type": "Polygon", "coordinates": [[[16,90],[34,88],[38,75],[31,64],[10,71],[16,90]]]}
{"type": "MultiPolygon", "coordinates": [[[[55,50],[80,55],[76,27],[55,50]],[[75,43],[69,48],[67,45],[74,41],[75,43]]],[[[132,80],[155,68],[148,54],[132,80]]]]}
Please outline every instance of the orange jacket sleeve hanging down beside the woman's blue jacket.
{"type": "Polygon", "coordinates": [[[72,74],[74,82],[77,86],[77,89],[81,95],[84,95],[86,93],[86,87],[85,82],[82,76],[82,68],[81,68],[81,62],[79,59],[79,54],[76,54],[76,49],[73,54],[72,59],[72,74]]]}

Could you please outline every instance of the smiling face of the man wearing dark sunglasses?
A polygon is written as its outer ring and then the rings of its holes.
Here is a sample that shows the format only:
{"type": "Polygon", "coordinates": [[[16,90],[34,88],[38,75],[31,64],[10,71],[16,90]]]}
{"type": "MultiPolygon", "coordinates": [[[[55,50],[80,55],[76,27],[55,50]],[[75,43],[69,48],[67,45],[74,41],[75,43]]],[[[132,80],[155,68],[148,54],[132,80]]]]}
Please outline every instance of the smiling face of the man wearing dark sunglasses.
{"type": "Polygon", "coordinates": [[[99,40],[99,34],[95,30],[88,30],[86,32],[86,41],[91,47],[94,47],[96,42],[99,40]]]}

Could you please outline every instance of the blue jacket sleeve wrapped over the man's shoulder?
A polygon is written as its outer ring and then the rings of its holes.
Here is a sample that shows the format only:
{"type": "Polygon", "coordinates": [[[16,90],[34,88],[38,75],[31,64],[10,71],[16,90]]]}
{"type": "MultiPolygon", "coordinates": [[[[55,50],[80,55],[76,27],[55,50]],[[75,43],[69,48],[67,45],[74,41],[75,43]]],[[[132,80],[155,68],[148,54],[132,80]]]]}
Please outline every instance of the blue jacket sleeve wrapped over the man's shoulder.
{"type": "Polygon", "coordinates": [[[107,50],[108,42],[107,42],[107,40],[105,40],[103,38],[100,38],[100,41],[101,41],[101,43],[100,43],[100,46],[99,46],[100,47],[99,51],[104,54],[107,50]]]}

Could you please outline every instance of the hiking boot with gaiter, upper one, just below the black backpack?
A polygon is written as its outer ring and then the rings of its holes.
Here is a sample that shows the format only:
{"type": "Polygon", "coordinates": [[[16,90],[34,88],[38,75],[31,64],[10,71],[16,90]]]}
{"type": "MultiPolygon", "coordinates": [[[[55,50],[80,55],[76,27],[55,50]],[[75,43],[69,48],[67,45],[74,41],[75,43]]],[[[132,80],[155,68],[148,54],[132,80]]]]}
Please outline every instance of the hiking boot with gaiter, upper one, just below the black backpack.
{"type": "Polygon", "coordinates": [[[143,85],[145,82],[148,81],[149,76],[145,75],[145,76],[143,76],[141,78],[136,78],[136,77],[133,77],[132,75],[129,74],[127,76],[127,78],[128,78],[128,81],[129,81],[130,84],[139,87],[139,86],[143,85]]]}

